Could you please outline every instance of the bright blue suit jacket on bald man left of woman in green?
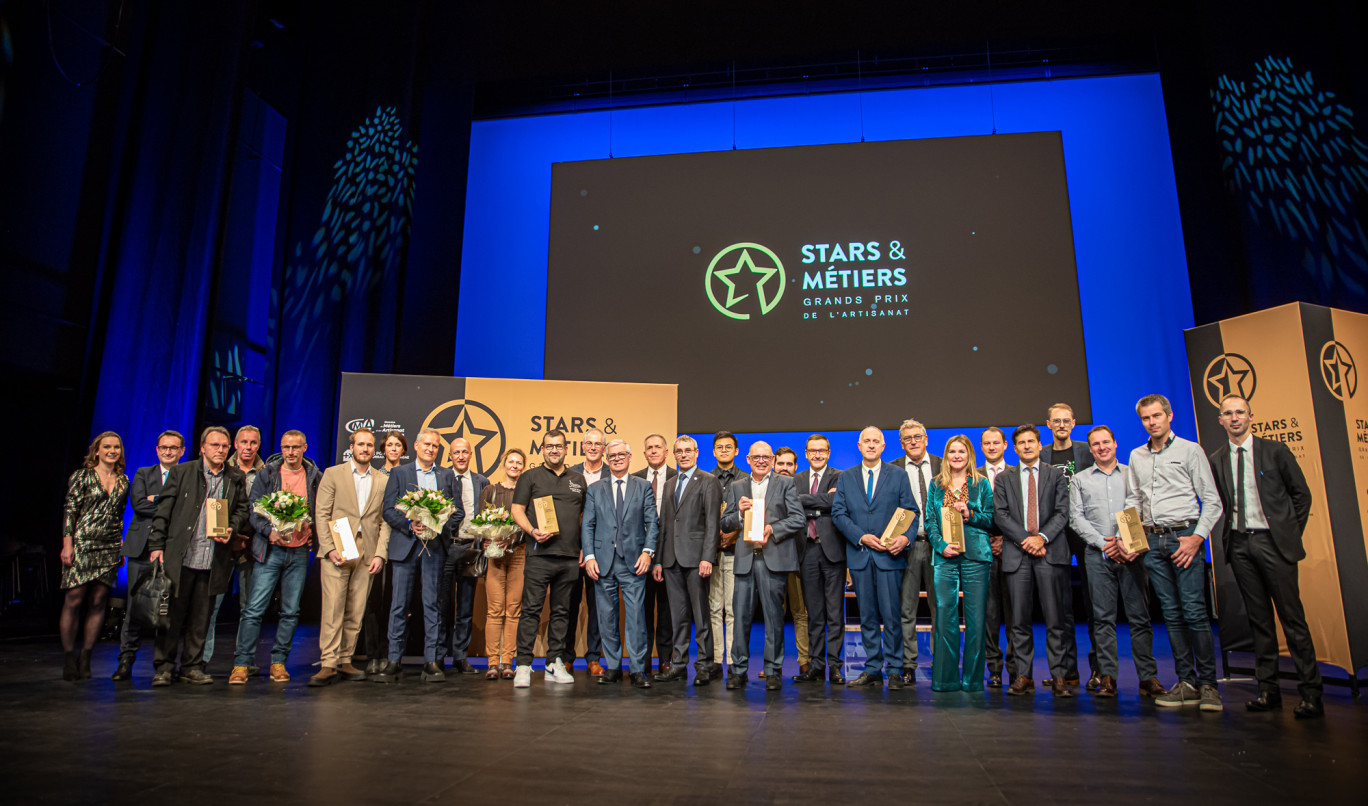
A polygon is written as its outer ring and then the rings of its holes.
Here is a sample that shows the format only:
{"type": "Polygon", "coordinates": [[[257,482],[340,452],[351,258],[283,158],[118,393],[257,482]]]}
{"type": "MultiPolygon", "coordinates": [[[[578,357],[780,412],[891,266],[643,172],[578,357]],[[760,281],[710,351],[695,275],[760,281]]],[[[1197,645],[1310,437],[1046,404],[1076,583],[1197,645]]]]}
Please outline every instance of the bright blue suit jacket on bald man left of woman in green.
{"type": "Polygon", "coordinates": [[[836,498],[832,501],[832,523],[845,538],[845,564],[851,571],[863,571],[871,561],[876,568],[884,571],[902,571],[907,568],[907,550],[897,557],[888,551],[873,551],[860,545],[865,535],[882,536],[888,528],[888,521],[893,520],[897,508],[911,509],[918,516],[907,527],[904,535],[917,538],[917,520],[921,510],[917,499],[912,498],[912,489],[908,486],[907,471],[884,463],[878,468],[878,482],[874,484],[874,498],[865,498],[865,465],[858,464],[843,471],[836,479],[836,498]]]}

